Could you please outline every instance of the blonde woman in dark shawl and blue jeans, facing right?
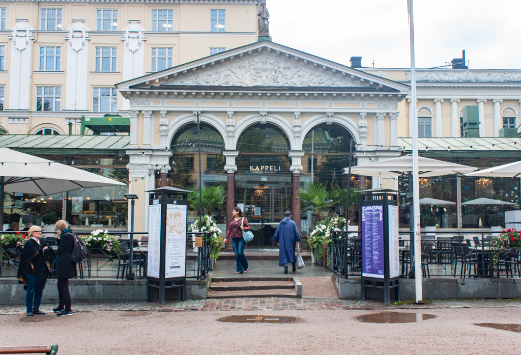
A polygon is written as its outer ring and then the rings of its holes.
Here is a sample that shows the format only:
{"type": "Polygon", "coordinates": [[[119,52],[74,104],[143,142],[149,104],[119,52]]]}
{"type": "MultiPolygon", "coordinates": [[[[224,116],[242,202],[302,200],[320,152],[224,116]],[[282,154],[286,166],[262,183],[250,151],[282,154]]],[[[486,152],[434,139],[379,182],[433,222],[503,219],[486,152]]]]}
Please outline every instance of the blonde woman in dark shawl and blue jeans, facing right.
{"type": "Polygon", "coordinates": [[[54,259],[54,250],[43,239],[42,230],[38,226],[29,228],[29,239],[23,244],[20,253],[17,277],[20,283],[26,284],[27,315],[45,314],[40,311],[43,289],[47,277],[51,275],[51,262],[54,259]]]}

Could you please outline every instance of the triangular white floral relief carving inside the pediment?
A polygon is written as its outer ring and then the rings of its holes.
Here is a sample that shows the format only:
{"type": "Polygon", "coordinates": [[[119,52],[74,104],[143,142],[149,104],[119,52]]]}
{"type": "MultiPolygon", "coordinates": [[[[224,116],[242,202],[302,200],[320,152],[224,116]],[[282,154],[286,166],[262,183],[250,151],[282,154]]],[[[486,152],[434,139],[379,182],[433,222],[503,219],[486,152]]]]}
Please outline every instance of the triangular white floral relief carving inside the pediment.
{"type": "Polygon", "coordinates": [[[289,87],[353,87],[354,83],[342,81],[326,73],[317,74],[309,68],[286,63],[269,56],[259,56],[242,63],[209,73],[172,80],[167,85],[213,86],[289,86],[289,87]]]}

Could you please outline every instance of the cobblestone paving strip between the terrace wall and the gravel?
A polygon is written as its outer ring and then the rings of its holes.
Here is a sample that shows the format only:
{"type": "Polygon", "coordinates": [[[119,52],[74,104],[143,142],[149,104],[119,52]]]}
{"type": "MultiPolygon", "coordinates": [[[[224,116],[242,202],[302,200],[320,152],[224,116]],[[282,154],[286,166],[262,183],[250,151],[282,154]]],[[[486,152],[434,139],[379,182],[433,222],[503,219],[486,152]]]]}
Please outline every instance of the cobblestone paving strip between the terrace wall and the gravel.
{"type": "MultiPolygon", "coordinates": [[[[102,311],[257,311],[257,310],[391,310],[391,309],[446,309],[446,308],[521,308],[519,299],[485,299],[485,300],[433,300],[423,305],[397,303],[386,307],[380,302],[362,300],[324,300],[309,298],[232,298],[189,300],[170,302],[159,305],[154,302],[121,302],[121,303],[77,303],[73,304],[73,312],[102,311]]],[[[52,312],[56,304],[42,304],[40,310],[52,312]]],[[[23,305],[0,305],[1,314],[24,314],[23,305]]]]}

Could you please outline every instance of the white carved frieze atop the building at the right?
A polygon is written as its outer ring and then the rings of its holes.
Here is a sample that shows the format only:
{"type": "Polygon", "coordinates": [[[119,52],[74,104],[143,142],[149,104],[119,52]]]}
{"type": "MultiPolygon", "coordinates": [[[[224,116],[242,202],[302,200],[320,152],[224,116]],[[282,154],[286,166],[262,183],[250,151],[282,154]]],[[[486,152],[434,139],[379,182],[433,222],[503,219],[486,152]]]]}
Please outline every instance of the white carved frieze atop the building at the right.
{"type": "MultiPolygon", "coordinates": [[[[405,80],[411,81],[411,73],[405,72],[405,80]]],[[[416,81],[431,82],[519,82],[521,81],[521,72],[512,71],[416,71],[416,81]]]]}

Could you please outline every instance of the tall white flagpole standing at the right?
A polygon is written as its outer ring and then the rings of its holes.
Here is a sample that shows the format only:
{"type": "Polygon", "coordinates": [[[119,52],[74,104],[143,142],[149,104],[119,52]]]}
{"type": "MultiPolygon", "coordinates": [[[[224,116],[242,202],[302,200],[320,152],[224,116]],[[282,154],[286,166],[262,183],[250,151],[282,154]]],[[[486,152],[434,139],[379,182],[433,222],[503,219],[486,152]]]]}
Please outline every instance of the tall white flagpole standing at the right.
{"type": "Polygon", "coordinates": [[[423,303],[421,290],[421,236],[418,173],[418,119],[416,118],[416,68],[414,64],[414,10],[413,0],[408,1],[409,25],[411,30],[411,112],[413,113],[413,214],[414,214],[414,286],[416,303],[423,303]]]}

